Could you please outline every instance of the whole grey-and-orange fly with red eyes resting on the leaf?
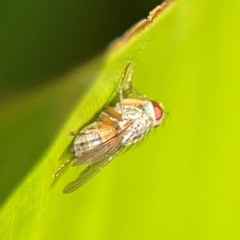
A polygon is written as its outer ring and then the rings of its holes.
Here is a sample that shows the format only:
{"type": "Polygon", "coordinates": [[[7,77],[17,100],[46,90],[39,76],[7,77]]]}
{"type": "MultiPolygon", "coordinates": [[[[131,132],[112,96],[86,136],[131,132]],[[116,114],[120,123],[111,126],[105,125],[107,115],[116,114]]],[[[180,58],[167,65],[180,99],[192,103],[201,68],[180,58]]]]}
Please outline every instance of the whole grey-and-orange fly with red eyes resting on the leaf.
{"type": "Polygon", "coordinates": [[[73,167],[87,165],[76,180],[67,184],[63,193],[70,193],[81,187],[125,147],[139,142],[152,128],[162,123],[162,105],[148,100],[133,88],[133,70],[126,81],[129,65],[128,62],[120,80],[119,102],[115,106],[107,106],[95,122],[75,134],[72,157],[54,174],[57,177],[70,163],[73,167]],[[129,95],[133,97],[130,98],[129,95]]]}

